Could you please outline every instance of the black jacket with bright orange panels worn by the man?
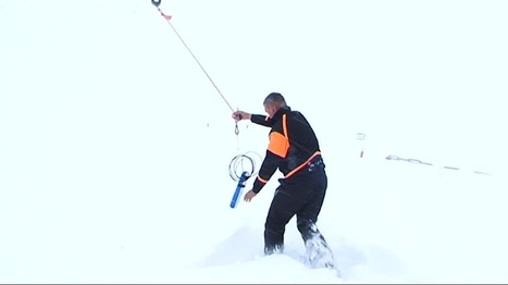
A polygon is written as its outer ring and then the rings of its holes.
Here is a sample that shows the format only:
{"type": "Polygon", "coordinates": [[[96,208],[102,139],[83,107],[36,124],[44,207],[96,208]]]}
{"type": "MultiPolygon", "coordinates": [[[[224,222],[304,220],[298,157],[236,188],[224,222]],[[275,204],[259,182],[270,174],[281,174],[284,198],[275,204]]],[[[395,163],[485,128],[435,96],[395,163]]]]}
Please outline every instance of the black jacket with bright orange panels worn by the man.
{"type": "Polygon", "coordinates": [[[284,174],[281,183],[306,178],[312,172],[324,171],[318,138],[300,112],[286,106],[272,119],[252,114],[250,121],[272,128],[267,156],[252,186],[255,193],[261,190],[277,169],[284,174]]]}

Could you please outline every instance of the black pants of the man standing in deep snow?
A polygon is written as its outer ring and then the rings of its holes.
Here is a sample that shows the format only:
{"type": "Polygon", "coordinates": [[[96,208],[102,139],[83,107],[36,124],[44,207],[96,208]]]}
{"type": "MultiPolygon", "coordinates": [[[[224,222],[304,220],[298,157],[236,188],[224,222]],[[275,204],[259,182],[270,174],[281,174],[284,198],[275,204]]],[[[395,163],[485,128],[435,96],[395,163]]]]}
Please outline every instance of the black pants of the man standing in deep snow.
{"type": "Polygon", "coordinates": [[[318,237],[325,245],[315,225],[327,187],[324,170],[290,182],[283,181],[275,190],[264,224],[264,253],[283,250],[286,224],[295,214],[303,241],[318,237]]]}

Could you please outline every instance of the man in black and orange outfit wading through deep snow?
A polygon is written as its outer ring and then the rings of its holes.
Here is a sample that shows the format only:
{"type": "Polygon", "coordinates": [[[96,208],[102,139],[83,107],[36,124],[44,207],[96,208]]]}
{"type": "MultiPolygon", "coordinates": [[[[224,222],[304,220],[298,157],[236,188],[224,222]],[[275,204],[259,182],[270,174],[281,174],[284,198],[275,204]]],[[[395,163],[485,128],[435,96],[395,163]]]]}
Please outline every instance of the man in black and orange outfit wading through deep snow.
{"type": "Polygon", "coordinates": [[[327,187],[318,138],[306,117],[293,111],[281,94],[270,94],[263,106],[268,116],[244,111],[236,111],[232,116],[271,127],[267,154],[252,189],[245,194],[244,200],[250,202],[276,170],[284,175],[278,179],[267,215],[264,253],[283,251],[286,224],[296,214],[309,265],[334,268],[332,252],[315,225],[327,187]]]}

